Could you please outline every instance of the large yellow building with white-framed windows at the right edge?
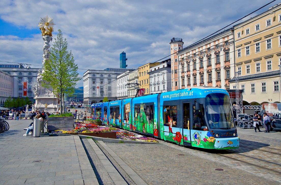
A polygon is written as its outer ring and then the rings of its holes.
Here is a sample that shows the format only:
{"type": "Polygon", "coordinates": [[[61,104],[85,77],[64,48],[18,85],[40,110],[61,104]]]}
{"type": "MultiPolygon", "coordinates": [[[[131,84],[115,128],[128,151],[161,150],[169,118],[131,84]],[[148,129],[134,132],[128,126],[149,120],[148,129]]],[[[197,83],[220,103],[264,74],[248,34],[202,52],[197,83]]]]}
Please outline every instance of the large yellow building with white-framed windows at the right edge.
{"type": "Polygon", "coordinates": [[[281,4],[235,25],[234,40],[243,105],[280,102],[281,4]]]}

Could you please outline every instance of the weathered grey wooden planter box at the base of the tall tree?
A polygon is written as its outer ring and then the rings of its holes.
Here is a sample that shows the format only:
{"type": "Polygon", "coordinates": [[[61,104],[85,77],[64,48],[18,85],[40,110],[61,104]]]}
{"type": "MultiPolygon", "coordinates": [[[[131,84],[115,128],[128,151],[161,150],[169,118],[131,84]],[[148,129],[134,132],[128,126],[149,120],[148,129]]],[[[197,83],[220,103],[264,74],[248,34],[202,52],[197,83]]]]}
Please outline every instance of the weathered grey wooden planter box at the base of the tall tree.
{"type": "Polygon", "coordinates": [[[48,130],[62,130],[62,129],[74,129],[74,120],[73,116],[67,117],[48,117],[48,130]]]}

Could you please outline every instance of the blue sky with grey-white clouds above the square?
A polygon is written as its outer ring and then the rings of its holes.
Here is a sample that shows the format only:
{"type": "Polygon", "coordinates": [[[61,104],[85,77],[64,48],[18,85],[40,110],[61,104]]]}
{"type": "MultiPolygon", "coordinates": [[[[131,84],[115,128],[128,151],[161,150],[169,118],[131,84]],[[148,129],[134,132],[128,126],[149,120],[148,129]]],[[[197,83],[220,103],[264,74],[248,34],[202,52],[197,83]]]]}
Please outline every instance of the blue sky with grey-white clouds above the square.
{"type": "Polygon", "coordinates": [[[44,42],[37,26],[48,15],[56,24],[53,37],[62,30],[81,76],[84,69],[119,67],[122,51],[128,68],[137,68],[170,55],[171,38],[182,38],[186,47],[268,2],[1,0],[0,60],[41,65],[44,42]]]}

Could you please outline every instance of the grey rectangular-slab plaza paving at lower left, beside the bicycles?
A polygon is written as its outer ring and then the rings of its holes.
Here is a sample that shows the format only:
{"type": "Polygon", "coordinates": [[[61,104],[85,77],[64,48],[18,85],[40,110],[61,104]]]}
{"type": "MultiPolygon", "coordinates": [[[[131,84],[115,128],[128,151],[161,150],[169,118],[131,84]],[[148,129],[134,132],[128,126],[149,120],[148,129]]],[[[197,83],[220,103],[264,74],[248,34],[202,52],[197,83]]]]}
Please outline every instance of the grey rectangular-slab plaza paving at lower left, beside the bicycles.
{"type": "Polygon", "coordinates": [[[0,134],[0,184],[84,184],[77,136],[22,136],[30,122],[8,120],[0,134]]]}

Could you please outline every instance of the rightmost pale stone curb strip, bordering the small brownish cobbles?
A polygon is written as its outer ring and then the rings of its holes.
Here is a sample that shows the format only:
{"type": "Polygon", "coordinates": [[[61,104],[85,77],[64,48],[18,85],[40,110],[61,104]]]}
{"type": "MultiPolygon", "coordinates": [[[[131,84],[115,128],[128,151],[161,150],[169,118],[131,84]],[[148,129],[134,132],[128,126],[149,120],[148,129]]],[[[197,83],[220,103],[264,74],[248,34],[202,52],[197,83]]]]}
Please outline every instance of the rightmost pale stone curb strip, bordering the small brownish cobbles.
{"type": "MultiPolygon", "coordinates": [[[[90,140],[90,139],[89,139],[90,140]]],[[[99,144],[112,156],[112,158],[123,168],[137,185],[148,185],[130,166],[128,166],[115,152],[113,152],[103,141],[99,144]]]]}

